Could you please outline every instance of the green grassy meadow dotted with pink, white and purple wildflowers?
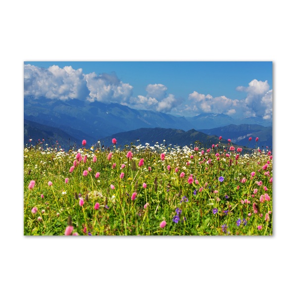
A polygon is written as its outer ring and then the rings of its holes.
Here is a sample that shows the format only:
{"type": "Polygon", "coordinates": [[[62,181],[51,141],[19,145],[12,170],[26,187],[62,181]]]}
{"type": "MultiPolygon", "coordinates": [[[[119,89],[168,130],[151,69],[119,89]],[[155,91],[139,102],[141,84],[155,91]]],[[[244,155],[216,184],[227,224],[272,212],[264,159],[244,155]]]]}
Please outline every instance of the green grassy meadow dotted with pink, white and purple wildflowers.
{"type": "Polygon", "coordinates": [[[44,145],[24,148],[24,235],[272,235],[268,150],[44,145]]]}

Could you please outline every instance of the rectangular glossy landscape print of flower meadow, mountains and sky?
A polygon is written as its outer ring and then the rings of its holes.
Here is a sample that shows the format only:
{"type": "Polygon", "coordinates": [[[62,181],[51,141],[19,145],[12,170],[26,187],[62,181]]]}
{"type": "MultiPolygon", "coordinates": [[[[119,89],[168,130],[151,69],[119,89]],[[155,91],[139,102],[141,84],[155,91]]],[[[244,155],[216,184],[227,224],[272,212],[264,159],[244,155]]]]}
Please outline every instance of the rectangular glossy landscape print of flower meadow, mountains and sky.
{"type": "Polygon", "coordinates": [[[272,235],[272,62],[24,62],[24,235],[272,235]]]}

